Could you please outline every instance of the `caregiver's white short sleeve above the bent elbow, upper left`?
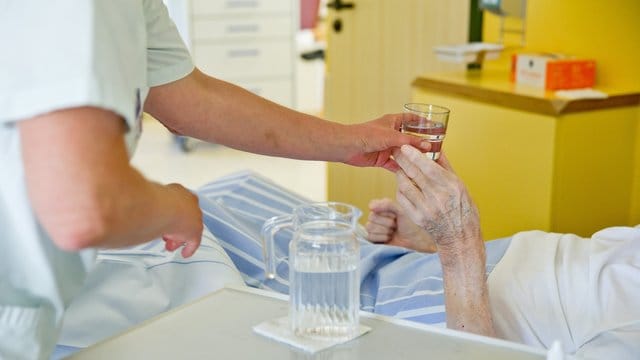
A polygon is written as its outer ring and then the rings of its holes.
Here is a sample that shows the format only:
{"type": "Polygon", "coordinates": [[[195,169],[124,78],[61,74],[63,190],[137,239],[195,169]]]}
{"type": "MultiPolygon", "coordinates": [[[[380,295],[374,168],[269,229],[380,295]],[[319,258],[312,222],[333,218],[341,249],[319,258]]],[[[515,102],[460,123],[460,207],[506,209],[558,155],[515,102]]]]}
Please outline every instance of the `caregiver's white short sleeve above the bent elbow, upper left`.
{"type": "Polygon", "coordinates": [[[2,2],[0,122],[96,106],[131,126],[145,85],[143,19],[142,4],[126,0],[2,2]]]}

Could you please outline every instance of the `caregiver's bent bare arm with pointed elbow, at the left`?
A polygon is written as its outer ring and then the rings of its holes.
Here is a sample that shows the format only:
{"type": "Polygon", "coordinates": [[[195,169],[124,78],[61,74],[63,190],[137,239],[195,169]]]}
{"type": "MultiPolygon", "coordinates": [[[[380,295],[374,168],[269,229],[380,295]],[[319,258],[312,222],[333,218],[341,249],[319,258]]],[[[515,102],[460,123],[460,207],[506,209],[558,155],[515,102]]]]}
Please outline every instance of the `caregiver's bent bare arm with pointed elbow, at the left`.
{"type": "Polygon", "coordinates": [[[129,165],[123,130],[114,113],[88,107],[20,123],[29,197],[59,247],[133,245],[184,232],[189,221],[201,229],[195,197],[149,182],[129,165]]]}

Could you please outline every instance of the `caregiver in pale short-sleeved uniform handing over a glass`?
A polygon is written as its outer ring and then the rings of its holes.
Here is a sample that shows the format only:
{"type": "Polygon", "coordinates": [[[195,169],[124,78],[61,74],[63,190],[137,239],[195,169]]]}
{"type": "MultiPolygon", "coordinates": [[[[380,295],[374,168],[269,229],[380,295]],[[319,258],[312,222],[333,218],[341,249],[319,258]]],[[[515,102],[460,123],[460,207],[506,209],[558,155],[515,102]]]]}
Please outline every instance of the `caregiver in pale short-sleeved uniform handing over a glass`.
{"type": "Polygon", "coordinates": [[[393,148],[420,146],[396,115],[340,125],[201,73],[161,0],[3,1],[0,40],[2,359],[48,358],[94,248],[198,248],[196,196],[129,164],[143,111],[272,156],[395,170],[393,148]]]}

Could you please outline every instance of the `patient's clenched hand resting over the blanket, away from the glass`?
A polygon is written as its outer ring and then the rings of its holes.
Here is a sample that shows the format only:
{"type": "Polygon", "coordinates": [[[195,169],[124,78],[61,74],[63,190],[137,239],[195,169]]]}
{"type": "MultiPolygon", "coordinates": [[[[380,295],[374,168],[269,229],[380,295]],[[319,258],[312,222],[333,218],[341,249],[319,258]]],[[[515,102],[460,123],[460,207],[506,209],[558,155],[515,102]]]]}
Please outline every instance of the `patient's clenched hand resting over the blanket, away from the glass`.
{"type": "Polygon", "coordinates": [[[372,200],[369,210],[365,225],[367,240],[420,252],[436,252],[436,244],[429,234],[416,225],[395,201],[386,198],[372,200]]]}

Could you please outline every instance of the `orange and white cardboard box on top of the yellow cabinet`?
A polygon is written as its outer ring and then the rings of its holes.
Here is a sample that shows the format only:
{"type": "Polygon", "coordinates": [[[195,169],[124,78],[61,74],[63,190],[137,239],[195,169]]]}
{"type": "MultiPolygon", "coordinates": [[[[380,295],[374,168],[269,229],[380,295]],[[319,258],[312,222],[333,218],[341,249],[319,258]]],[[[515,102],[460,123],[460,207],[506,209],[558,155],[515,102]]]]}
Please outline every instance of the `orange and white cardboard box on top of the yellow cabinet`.
{"type": "Polygon", "coordinates": [[[596,62],[557,55],[516,54],[511,58],[511,81],[546,90],[592,87],[596,62]]]}

